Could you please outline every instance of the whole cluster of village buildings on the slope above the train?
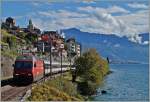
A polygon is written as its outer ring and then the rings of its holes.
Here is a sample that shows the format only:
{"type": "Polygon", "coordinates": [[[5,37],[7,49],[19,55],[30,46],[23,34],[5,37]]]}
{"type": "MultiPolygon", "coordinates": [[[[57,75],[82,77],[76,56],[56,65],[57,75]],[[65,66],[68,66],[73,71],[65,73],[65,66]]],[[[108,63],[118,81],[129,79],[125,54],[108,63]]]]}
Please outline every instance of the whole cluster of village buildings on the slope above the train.
{"type": "MultiPolygon", "coordinates": [[[[34,35],[36,40],[32,41],[33,47],[30,50],[33,52],[50,52],[52,55],[56,55],[63,58],[67,58],[69,54],[73,56],[81,55],[81,45],[76,43],[74,38],[70,38],[65,42],[65,34],[62,31],[44,31],[41,34],[41,30],[36,28],[30,19],[26,28],[20,28],[16,26],[16,21],[12,17],[6,18],[5,22],[1,23],[2,29],[7,29],[7,32],[16,35],[18,41],[24,41],[20,36],[25,34],[25,36],[31,37],[34,35]],[[61,45],[64,47],[61,48],[61,45]],[[51,49],[50,49],[51,48],[51,49]]],[[[25,41],[24,41],[25,42],[25,41]]],[[[59,58],[60,59],[60,58],[59,58]]]]}

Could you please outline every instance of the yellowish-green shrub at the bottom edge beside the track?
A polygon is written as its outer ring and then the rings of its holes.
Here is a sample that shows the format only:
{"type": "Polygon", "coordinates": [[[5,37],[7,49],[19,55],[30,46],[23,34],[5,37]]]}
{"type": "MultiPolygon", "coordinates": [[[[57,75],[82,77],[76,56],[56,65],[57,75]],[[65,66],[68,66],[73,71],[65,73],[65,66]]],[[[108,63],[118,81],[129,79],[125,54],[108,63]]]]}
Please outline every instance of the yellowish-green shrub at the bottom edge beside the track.
{"type": "Polygon", "coordinates": [[[44,84],[44,85],[39,85],[36,88],[34,88],[28,100],[30,101],[50,101],[50,100],[67,101],[67,100],[71,100],[71,97],[54,87],[44,84]]]}

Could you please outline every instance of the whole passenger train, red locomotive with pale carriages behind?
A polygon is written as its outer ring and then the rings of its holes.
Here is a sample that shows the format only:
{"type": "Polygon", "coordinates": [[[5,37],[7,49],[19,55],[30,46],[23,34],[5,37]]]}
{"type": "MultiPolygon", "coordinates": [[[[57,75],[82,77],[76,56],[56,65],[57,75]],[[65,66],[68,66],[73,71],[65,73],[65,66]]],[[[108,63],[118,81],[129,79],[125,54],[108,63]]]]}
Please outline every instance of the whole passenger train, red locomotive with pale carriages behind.
{"type": "MultiPolygon", "coordinates": [[[[34,55],[23,54],[16,58],[13,64],[14,80],[35,82],[50,74],[50,62],[38,59],[34,55]]],[[[62,71],[68,71],[69,64],[63,63],[62,71]]],[[[52,63],[52,74],[61,72],[60,63],[52,63]]]]}

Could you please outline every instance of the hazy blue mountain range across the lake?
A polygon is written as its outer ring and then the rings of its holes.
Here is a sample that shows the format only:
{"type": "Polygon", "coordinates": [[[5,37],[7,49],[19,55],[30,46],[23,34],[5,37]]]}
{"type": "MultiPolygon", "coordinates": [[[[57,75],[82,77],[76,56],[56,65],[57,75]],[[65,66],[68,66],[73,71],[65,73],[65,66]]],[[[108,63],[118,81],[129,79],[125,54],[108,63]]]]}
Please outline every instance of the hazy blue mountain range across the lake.
{"type": "MultiPolygon", "coordinates": [[[[112,61],[148,63],[148,44],[141,45],[128,40],[127,37],[118,37],[110,34],[96,34],[82,32],[76,28],[63,30],[66,38],[74,37],[82,44],[82,51],[96,48],[103,57],[112,61]]],[[[140,34],[142,42],[149,41],[149,33],[140,34]]]]}

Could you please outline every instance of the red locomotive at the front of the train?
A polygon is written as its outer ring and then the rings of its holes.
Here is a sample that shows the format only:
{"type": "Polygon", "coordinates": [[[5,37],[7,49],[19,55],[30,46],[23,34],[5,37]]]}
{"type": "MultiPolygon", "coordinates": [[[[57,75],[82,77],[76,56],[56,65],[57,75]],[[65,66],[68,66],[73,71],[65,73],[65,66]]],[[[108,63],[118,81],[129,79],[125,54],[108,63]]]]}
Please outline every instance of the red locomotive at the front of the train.
{"type": "Polygon", "coordinates": [[[37,81],[44,75],[44,61],[24,54],[16,58],[13,78],[21,81],[37,81]]]}

